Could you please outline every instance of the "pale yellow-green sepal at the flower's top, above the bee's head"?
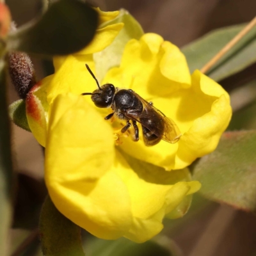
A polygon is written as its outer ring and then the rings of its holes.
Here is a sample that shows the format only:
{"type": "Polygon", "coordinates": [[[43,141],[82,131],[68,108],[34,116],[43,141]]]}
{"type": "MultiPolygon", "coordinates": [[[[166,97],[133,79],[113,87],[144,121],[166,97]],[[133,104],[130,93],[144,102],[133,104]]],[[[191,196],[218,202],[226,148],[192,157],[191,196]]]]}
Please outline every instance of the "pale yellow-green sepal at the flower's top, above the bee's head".
{"type": "Polygon", "coordinates": [[[96,74],[99,81],[102,81],[109,68],[120,65],[124,47],[131,38],[139,40],[143,35],[143,29],[127,10],[121,9],[119,15],[102,26],[116,23],[124,23],[124,28],[116,36],[111,45],[101,52],[93,54],[95,61],[96,74]],[[102,68],[103,67],[103,68],[102,68]]]}

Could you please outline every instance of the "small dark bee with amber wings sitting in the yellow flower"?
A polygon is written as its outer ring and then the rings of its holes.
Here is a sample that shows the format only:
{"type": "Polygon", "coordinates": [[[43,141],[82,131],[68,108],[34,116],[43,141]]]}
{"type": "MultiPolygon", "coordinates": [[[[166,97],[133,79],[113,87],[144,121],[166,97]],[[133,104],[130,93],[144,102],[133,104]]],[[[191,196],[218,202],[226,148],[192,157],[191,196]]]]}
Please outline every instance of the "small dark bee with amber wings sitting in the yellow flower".
{"type": "Polygon", "coordinates": [[[121,132],[126,132],[133,126],[134,141],[139,140],[138,123],[141,124],[143,141],[146,146],[156,145],[161,140],[169,143],[179,141],[181,133],[175,122],[155,108],[152,102],[147,102],[131,89],[119,90],[109,83],[100,86],[87,64],[86,68],[95,79],[99,89],[92,93],[82,93],[82,95],[92,95],[91,99],[98,108],[113,110],[113,113],[106,116],[105,120],[109,120],[113,116],[120,120],[126,120],[121,132]]]}

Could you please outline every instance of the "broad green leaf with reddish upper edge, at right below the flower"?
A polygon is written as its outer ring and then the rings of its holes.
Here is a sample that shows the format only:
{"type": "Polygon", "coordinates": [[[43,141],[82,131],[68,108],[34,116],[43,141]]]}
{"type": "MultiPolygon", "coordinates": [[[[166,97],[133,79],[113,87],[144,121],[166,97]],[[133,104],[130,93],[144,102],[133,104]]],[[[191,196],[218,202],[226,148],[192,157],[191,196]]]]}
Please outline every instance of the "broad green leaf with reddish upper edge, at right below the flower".
{"type": "Polygon", "coordinates": [[[214,152],[195,164],[193,179],[206,198],[256,210],[256,131],[225,132],[214,152]]]}

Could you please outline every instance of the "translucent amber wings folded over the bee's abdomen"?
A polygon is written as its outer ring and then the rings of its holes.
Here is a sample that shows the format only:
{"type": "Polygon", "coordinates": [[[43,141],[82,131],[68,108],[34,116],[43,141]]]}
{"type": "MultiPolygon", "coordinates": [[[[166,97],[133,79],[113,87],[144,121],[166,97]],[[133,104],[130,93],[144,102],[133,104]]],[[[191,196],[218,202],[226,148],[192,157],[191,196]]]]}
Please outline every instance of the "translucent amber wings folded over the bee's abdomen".
{"type": "Polygon", "coordinates": [[[129,112],[127,113],[127,116],[132,118],[133,120],[136,120],[141,125],[145,126],[150,131],[154,132],[156,136],[160,137],[162,140],[167,141],[169,143],[176,143],[180,136],[181,132],[175,122],[165,116],[159,109],[155,108],[151,104],[147,102],[147,100],[143,99],[138,95],[137,93],[136,97],[138,97],[141,100],[141,103],[143,104],[143,111],[142,113],[138,112],[129,112]],[[148,122],[144,122],[143,120],[154,120],[156,118],[156,115],[158,115],[158,118],[160,118],[161,122],[164,123],[164,129],[162,125],[148,125],[148,122]]]}

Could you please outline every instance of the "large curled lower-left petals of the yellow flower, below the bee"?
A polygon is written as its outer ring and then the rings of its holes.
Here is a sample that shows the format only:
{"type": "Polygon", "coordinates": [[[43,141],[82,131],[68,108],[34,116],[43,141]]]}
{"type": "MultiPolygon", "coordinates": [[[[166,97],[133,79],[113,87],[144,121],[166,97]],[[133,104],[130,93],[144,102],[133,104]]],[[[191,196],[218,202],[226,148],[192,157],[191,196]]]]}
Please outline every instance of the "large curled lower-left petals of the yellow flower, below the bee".
{"type": "Polygon", "coordinates": [[[52,104],[45,147],[45,182],[52,202],[94,236],[138,243],[179,218],[200,184],[189,170],[165,172],[115,148],[113,129],[78,95],[52,104]]]}

